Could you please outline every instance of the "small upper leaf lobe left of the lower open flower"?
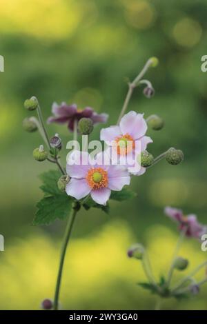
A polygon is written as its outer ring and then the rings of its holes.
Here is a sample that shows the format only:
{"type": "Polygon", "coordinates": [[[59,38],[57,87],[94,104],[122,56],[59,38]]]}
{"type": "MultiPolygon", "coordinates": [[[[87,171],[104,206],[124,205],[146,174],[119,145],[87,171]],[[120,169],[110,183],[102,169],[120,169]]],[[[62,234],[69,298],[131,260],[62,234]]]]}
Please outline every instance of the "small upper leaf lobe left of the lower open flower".
{"type": "Polygon", "coordinates": [[[41,190],[45,194],[60,194],[60,191],[57,187],[57,181],[61,176],[59,170],[50,170],[44,172],[39,177],[43,181],[43,184],[40,186],[41,190]]]}

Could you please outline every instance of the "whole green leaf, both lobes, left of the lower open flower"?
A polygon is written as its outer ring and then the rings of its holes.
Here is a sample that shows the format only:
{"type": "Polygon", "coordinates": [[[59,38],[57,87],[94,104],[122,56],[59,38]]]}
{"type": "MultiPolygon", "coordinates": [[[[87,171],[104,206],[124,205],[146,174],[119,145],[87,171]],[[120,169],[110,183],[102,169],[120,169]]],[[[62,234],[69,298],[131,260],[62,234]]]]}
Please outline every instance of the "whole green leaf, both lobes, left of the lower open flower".
{"type": "Polygon", "coordinates": [[[37,203],[33,225],[48,225],[55,219],[65,219],[70,213],[74,199],[57,188],[59,176],[61,174],[57,170],[41,174],[43,185],[40,188],[45,196],[37,203]]]}

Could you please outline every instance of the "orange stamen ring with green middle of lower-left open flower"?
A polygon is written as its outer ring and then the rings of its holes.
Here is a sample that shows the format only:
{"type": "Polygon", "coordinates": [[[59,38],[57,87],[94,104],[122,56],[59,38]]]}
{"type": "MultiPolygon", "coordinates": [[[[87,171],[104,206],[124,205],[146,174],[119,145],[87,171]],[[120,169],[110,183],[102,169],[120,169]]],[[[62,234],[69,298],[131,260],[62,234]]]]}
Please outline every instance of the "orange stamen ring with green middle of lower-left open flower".
{"type": "Polygon", "coordinates": [[[86,175],[86,181],[93,190],[106,188],[108,186],[108,174],[102,168],[91,168],[86,175]]]}

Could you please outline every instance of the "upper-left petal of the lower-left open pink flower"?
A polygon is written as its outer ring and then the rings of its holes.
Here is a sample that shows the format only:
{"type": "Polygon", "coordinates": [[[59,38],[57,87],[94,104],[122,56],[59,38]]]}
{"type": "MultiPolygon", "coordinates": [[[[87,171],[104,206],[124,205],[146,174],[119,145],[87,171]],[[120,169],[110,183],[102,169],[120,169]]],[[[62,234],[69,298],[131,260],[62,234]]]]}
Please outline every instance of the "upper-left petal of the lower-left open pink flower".
{"type": "Polygon", "coordinates": [[[66,165],[66,172],[72,178],[86,178],[88,170],[92,166],[88,163],[88,152],[74,151],[70,154],[66,165]]]}

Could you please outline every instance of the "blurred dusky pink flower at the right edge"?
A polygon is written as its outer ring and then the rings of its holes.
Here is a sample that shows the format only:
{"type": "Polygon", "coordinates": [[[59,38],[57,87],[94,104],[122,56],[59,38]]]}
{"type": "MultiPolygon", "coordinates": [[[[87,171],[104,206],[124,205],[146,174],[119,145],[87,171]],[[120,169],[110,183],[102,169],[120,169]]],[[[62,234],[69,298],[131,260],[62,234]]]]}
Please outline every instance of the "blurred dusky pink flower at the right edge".
{"type": "Polygon", "coordinates": [[[185,216],[182,210],[177,208],[165,207],[165,214],[179,224],[179,230],[186,230],[186,236],[201,239],[203,234],[207,233],[207,226],[202,225],[197,221],[197,216],[189,214],[185,216]]]}

